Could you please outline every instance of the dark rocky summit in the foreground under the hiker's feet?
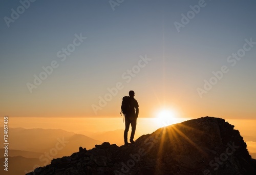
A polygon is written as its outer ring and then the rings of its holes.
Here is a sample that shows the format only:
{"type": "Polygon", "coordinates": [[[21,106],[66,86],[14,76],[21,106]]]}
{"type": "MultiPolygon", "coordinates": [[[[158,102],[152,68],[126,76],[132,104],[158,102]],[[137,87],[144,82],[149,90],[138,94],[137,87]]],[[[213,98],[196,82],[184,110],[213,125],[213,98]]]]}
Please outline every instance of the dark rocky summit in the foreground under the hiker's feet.
{"type": "Polygon", "coordinates": [[[202,117],[159,128],[134,144],[104,142],[53,159],[31,174],[256,174],[246,143],[224,119],[202,117]]]}

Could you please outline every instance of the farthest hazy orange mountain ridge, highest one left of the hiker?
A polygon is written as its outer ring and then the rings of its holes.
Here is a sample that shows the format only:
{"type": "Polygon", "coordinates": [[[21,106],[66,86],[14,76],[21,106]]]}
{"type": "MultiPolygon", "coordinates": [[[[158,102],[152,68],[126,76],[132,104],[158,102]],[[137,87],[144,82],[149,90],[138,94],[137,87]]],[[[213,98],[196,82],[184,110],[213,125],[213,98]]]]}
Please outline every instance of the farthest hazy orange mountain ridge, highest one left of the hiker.
{"type": "MultiPolygon", "coordinates": [[[[0,129],[3,129],[3,127],[0,129]]],[[[1,135],[3,135],[3,133],[0,133],[0,136],[1,135]]],[[[90,137],[67,132],[62,129],[9,128],[9,135],[12,136],[9,138],[9,142],[11,143],[9,149],[44,153],[57,147],[58,151],[56,155],[54,154],[54,158],[70,155],[79,146],[90,149],[93,148],[95,144],[102,143],[90,137]]]]}

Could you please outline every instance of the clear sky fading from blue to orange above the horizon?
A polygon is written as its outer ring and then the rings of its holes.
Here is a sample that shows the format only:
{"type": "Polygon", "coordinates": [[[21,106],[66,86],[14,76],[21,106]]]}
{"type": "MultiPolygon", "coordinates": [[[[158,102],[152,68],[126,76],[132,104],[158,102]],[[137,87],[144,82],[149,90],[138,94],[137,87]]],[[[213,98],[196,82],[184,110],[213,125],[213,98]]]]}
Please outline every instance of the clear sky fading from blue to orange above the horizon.
{"type": "Polygon", "coordinates": [[[256,41],[256,3],[206,0],[178,32],[175,22],[199,2],[124,0],[113,10],[109,1],[37,0],[8,27],[11,9],[22,8],[2,1],[0,115],[117,117],[122,97],[134,90],[140,117],[170,108],[180,117],[256,119],[256,45],[235,65],[227,61],[242,53],[245,39],[256,41]],[[87,38],[61,61],[57,53],[75,34],[87,38]],[[145,55],[151,60],[138,71],[145,55]],[[27,83],[52,61],[59,66],[31,93],[27,83]],[[223,66],[229,71],[201,98],[197,89],[223,66]],[[122,75],[133,68],[127,82],[122,75]],[[95,114],[92,105],[118,82],[122,89],[95,114]]]}

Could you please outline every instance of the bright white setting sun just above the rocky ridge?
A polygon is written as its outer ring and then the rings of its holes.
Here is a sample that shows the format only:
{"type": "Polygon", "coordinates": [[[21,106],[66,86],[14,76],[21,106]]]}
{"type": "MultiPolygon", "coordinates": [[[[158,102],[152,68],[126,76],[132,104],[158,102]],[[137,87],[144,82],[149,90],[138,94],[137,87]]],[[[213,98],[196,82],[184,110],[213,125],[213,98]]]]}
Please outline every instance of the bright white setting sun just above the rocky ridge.
{"type": "Polygon", "coordinates": [[[156,114],[156,120],[160,127],[168,126],[177,123],[176,113],[173,110],[160,110],[156,114]]]}

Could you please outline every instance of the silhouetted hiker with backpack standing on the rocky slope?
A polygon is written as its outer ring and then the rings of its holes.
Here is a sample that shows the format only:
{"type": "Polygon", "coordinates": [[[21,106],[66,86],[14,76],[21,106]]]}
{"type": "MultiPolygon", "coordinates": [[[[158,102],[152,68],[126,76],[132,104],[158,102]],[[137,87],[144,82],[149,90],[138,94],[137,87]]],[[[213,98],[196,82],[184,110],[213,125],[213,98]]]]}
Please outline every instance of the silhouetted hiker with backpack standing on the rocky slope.
{"type": "Polygon", "coordinates": [[[134,95],[135,95],[134,91],[130,91],[129,92],[130,97],[125,96],[123,97],[123,101],[122,101],[121,110],[125,117],[125,129],[123,134],[124,145],[130,144],[127,141],[127,135],[128,135],[130,124],[132,126],[130,142],[135,143],[133,139],[134,139],[136,125],[137,125],[137,118],[139,115],[139,104],[137,100],[134,99],[134,95]]]}

